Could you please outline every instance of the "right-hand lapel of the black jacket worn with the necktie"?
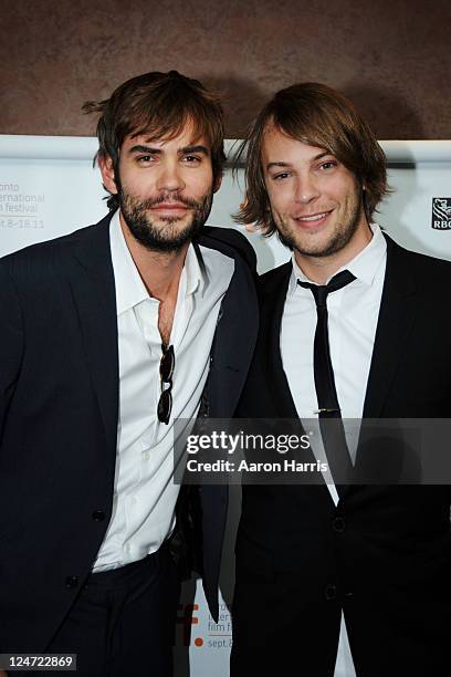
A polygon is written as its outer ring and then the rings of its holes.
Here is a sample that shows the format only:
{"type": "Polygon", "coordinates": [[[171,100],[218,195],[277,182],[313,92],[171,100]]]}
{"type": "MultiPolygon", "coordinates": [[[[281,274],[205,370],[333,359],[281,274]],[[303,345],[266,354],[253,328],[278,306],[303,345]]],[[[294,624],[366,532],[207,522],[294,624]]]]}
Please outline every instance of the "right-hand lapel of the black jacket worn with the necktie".
{"type": "Polygon", "coordinates": [[[415,280],[402,249],[387,239],[387,268],[380,301],[364,418],[379,418],[415,320],[415,280]]]}

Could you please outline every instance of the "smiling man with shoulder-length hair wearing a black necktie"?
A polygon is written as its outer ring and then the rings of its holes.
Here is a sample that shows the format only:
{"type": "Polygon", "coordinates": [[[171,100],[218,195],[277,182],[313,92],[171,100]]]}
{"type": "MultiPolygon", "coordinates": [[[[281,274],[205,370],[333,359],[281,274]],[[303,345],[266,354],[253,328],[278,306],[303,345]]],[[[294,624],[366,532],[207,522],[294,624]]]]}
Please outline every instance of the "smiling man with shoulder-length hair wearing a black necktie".
{"type": "Polygon", "coordinates": [[[261,280],[239,416],[316,428],[304,460],[332,478],[243,487],[231,676],[445,675],[450,488],[384,483],[408,447],[353,445],[343,419],[451,417],[451,264],[373,222],[385,156],[338,92],[279,92],[244,149],[241,220],[293,254],[261,280]]]}

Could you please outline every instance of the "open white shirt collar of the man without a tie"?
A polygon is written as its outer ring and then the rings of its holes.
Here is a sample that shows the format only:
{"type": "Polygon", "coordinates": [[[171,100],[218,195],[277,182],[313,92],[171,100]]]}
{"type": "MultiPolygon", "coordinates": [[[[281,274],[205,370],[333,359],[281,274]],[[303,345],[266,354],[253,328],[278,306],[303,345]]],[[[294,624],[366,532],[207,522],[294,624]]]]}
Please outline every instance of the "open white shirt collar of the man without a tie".
{"type": "MultiPolygon", "coordinates": [[[[125,241],[120,227],[119,210],[113,215],[109,223],[109,243],[116,284],[116,312],[120,315],[150,296],[125,241]]],[[[189,296],[197,290],[202,291],[204,283],[204,273],[198,261],[196,250],[190,244],[181,271],[180,289],[185,289],[185,296],[189,296]]]]}

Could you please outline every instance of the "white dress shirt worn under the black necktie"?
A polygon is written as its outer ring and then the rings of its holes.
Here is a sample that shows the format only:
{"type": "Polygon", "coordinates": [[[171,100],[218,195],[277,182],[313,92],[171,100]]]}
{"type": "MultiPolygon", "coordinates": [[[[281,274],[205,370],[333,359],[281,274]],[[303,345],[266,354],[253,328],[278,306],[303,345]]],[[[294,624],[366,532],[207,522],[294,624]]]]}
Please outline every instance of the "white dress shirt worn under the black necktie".
{"type": "MultiPolygon", "coordinates": [[[[360,419],[364,410],[387,261],[387,244],[380,228],[373,223],[371,230],[373,238],[365,249],[336,271],[349,270],[356,279],[327,296],[331,361],[353,461],[358,429],[352,419],[360,419]]],[[[311,290],[302,288],[297,280],[312,282],[298,268],[293,254],[293,271],[281,327],[282,364],[297,415],[301,419],[308,419],[308,431],[314,433],[311,438],[313,451],[319,460],[325,461],[313,372],[316,304],[311,290]]],[[[325,479],[337,504],[338,494],[331,476],[325,476],[325,479]]],[[[355,677],[355,674],[342,613],[335,677],[355,677]]]]}

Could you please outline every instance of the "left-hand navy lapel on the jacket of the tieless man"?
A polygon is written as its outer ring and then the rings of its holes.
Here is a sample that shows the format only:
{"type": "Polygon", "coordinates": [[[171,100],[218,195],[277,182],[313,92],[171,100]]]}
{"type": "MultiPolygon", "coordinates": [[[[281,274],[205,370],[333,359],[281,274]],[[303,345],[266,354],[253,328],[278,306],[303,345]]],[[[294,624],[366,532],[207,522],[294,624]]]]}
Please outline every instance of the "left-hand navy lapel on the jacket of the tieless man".
{"type": "Polygon", "coordinates": [[[70,283],[107,447],[115,454],[119,378],[109,220],[106,217],[81,235],[74,251],[70,283]]]}

